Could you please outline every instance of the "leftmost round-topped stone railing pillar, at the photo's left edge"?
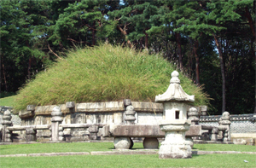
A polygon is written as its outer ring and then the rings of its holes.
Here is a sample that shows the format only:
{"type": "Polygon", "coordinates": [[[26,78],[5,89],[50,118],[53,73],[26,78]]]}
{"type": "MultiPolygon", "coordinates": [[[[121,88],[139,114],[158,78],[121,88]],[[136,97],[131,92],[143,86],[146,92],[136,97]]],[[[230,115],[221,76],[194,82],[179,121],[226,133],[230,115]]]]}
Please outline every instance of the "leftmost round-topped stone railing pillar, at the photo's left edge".
{"type": "Polygon", "coordinates": [[[13,142],[12,139],[11,139],[11,136],[12,136],[12,131],[10,131],[8,129],[9,126],[12,126],[12,116],[11,116],[11,113],[9,112],[9,110],[6,110],[4,113],[3,113],[3,142],[13,142]]]}

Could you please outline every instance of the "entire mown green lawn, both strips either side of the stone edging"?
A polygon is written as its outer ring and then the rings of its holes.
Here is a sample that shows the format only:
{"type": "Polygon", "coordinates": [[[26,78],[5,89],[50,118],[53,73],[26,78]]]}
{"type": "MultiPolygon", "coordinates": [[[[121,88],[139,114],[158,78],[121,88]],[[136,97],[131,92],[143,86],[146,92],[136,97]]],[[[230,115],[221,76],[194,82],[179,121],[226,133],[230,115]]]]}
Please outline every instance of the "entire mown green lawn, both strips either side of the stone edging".
{"type": "MultiPolygon", "coordinates": [[[[136,142],[134,148],[143,148],[136,142]]],[[[1,145],[0,154],[34,154],[57,152],[110,151],[112,142],[71,142],[1,145]]],[[[205,151],[255,152],[255,146],[195,144],[193,149],[205,151]]],[[[205,154],[192,159],[159,159],[149,155],[73,155],[0,158],[2,167],[256,167],[255,154],[205,154]],[[245,163],[247,160],[248,163],[245,163]]]]}

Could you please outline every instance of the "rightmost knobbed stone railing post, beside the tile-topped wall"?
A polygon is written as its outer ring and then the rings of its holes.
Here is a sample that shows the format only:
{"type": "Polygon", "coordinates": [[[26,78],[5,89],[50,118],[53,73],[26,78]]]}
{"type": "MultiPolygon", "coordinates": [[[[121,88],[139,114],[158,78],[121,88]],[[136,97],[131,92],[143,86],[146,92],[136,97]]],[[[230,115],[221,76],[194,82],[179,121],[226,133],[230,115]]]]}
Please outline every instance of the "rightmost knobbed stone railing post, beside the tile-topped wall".
{"type": "Polygon", "coordinates": [[[219,124],[221,128],[225,128],[224,130],[224,142],[230,142],[231,136],[230,136],[230,113],[224,112],[222,113],[221,120],[219,121],[219,124]]]}

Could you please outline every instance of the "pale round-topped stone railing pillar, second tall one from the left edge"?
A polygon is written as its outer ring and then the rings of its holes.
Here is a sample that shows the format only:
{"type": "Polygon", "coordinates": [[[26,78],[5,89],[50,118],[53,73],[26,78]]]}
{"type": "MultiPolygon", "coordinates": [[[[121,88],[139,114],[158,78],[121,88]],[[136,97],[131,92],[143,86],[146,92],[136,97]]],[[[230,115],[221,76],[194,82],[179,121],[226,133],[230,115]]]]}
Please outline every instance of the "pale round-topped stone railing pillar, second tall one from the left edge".
{"type": "MultiPolygon", "coordinates": [[[[55,106],[51,113],[51,141],[60,141],[59,140],[59,125],[61,124],[61,121],[63,120],[61,118],[61,108],[55,106]]],[[[62,135],[63,136],[63,135],[62,135]]],[[[61,140],[62,141],[62,140],[61,140]]]]}

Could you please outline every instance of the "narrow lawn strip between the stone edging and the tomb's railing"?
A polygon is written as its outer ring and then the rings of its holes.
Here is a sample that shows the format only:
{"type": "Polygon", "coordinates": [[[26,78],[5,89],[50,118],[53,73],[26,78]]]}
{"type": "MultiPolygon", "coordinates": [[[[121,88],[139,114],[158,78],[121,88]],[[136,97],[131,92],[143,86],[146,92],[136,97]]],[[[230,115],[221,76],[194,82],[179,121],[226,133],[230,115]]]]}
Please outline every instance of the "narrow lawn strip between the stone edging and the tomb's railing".
{"type": "MultiPolygon", "coordinates": [[[[111,151],[113,142],[67,142],[0,145],[0,154],[38,154],[63,152],[111,151]]],[[[135,142],[133,149],[143,149],[142,142],[135,142]]],[[[195,144],[194,150],[255,152],[256,146],[226,144],[195,144]]]]}

